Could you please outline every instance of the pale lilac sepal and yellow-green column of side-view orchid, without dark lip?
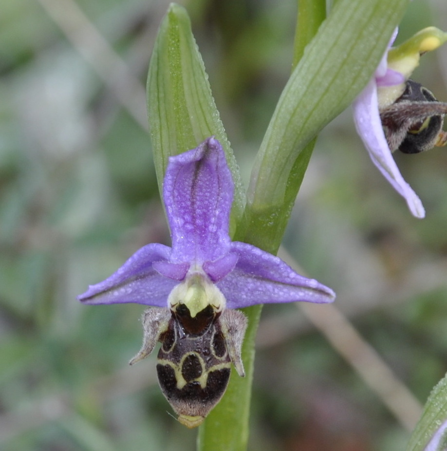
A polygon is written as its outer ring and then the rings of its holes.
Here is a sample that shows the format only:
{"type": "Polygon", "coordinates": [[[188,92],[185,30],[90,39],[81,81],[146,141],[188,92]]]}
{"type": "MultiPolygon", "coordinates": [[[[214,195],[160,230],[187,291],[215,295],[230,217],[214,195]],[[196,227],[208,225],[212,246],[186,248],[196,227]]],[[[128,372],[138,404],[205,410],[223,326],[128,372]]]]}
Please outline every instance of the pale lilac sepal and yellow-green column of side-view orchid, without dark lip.
{"type": "Polygon", "coordinates": [[[354,101],[354,123],[372,162],[404,197],[411,213],[417,218],[424,218],[425,209],[421,200],[404,180],[391,155],[380,113],[404,93],[407,80],[419,64],[420,55],[442,45],[447,35],[429,27],[399,47],[391,49],[396,36],[397,29],[374,76],[354,101]]]}

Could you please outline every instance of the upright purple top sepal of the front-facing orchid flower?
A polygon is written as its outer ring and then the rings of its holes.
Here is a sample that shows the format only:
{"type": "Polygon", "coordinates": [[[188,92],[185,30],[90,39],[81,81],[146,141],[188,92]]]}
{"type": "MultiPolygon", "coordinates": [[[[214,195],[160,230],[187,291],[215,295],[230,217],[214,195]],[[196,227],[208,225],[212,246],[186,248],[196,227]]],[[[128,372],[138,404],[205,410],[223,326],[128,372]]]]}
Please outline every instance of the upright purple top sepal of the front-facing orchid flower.
{"type": "Polygon", "coordinates": [[[212,262],[228,252],[233,187],[225,153],[214,137],[169,158],[163,190],[171,262],[212,262]]]}

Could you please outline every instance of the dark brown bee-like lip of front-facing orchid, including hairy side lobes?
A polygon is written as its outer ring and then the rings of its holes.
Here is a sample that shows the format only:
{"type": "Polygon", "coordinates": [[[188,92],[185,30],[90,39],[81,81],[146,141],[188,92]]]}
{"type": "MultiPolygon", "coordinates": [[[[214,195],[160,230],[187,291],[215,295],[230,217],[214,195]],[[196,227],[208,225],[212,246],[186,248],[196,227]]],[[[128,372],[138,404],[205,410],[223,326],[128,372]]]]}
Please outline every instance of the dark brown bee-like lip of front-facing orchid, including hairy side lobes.
{"type": "Polygon", "coordinates": [[[173,311],[149,308],[144,316],[144,341],[130,363],[148,356],[156,341],[162,346],[157,375],[163,394],[179,421],[199,426],[225,393],[231,363],[244,376],[241,348],[246,318],[238,310],[216,312],[211,305],[191,317],[185,304],[173,311]]]}

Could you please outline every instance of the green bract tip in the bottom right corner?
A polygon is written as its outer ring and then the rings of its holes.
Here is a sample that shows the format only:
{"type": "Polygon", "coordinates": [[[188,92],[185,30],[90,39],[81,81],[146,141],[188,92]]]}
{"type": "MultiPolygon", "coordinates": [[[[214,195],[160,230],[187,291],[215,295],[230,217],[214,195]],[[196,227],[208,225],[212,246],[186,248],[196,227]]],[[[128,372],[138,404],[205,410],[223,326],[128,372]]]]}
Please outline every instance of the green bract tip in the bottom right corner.
{"type": "MultiPolygon", "coordinates": [[[[406,451],[423,451],[437,429],[447,420],[447,375],[428,396],[421,419],[411,434],[406,451]]],[[[446,450],[445,447],[441,448],[446,450]]]]}

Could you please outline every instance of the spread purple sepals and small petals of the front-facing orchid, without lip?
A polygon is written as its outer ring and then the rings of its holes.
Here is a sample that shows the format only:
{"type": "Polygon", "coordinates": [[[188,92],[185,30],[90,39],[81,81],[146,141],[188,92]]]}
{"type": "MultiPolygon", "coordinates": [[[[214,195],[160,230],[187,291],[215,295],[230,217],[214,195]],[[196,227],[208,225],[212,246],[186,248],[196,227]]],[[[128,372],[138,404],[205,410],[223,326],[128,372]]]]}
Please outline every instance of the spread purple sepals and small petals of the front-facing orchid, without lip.
{"type": "Polygon", "coordinates": [[[334,301],[332,289],[299,275],[278,257],[231,241],[233,190],[225,153],[214,137],[170,157],[163,197],[172,247],[147,244],[77,299],[86,304],[136,302],[168,307],[174,286],[200,274],[222,291],[228,308],[334,301]]]}

